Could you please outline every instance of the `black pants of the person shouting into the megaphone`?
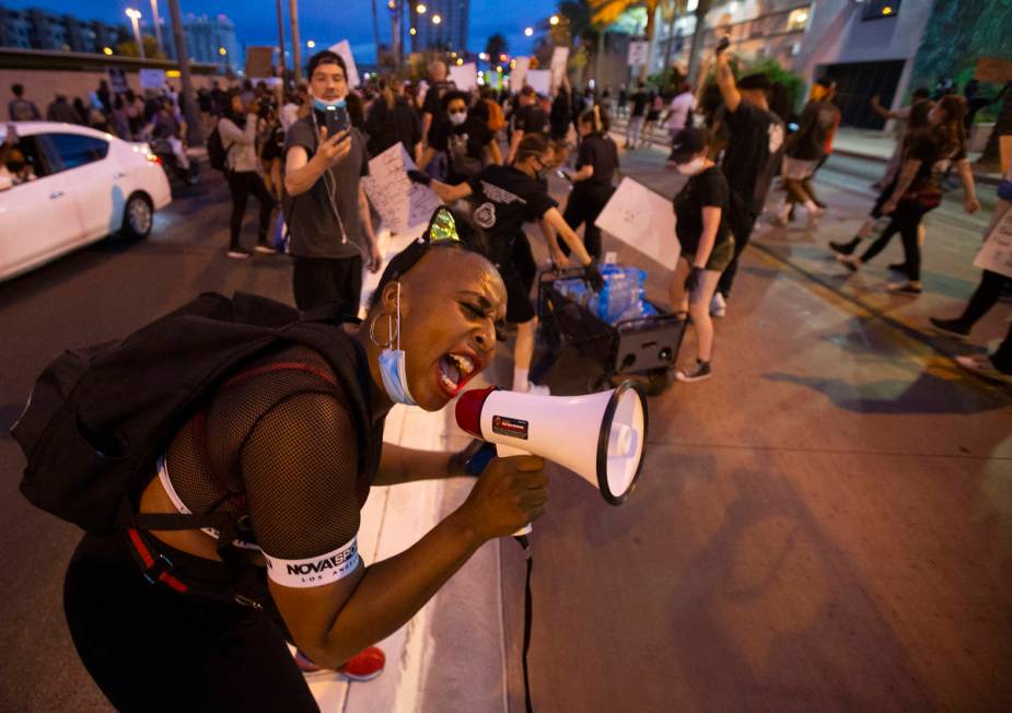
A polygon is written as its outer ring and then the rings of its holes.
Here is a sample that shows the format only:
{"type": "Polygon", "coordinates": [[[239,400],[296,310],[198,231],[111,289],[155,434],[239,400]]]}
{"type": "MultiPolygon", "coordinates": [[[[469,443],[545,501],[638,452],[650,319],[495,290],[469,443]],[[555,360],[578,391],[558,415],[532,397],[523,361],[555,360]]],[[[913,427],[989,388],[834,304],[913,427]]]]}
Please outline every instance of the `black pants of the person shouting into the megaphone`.
{"type": "MultiPolygon", "coordinates": [[[[127,548],[123,533],[85,535],[63,584],[74,646],[117,710],[318,710],[269,608],[150,584],[127,548]]],[[[232,581],[220,562],[159,550],[184,582],[232,581]]]]}

